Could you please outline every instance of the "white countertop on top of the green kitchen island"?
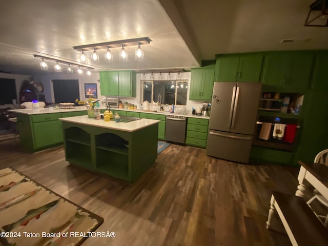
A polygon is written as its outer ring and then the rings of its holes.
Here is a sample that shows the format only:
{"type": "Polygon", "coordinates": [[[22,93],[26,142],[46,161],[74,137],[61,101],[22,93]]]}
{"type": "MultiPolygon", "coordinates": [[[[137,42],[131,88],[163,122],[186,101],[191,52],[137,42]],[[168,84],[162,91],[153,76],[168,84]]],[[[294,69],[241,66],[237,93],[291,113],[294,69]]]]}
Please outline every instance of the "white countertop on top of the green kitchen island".
{"type": "Polygon", "coordinates": [[[103,119],[88,118],[87,115],[59,118],[59,120],[72,122],[76,124],[88,125],[92,127],[108,128],[112,130],[134,132],[142,128],[157,124],[160,120],[156,119],[137,119],[130,122],[115,122],[114,120],[105,121],[103,119]]]}

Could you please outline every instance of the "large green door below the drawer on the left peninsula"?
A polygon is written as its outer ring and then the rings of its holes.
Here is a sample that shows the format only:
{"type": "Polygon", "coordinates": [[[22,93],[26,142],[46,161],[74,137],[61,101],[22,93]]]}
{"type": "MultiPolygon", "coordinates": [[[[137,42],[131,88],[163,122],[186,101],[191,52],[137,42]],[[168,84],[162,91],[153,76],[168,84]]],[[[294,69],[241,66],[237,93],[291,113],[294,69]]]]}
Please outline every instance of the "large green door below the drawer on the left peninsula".
{"type": "Polygon", "coordinates": [[[33,123],[35,149],[63,142],[61,121],[51,120],[33,123]]]}

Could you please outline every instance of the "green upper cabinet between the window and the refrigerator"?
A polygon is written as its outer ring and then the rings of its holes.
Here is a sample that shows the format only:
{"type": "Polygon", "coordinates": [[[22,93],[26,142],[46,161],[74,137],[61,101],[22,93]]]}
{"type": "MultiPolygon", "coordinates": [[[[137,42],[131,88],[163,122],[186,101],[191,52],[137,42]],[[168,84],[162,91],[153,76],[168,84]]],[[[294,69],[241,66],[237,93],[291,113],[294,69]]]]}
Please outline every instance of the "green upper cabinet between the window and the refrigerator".
{"type": "Polygon", "coordinates": [[[214,84],[214,66],[191,70],[190,100],[211,100],[214,84]]]}

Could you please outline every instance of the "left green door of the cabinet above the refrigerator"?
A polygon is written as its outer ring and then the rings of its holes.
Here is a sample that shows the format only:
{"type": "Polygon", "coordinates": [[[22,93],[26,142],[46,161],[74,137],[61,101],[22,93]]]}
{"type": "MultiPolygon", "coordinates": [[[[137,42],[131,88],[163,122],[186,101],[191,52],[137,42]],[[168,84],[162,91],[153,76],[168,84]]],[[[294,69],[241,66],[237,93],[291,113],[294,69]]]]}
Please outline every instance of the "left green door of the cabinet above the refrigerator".
{"type": "Polygon", "coordinates": [[[235,82],[238,76],[239,56],[219,56],[216,59],[215,81],[235,82]]]}

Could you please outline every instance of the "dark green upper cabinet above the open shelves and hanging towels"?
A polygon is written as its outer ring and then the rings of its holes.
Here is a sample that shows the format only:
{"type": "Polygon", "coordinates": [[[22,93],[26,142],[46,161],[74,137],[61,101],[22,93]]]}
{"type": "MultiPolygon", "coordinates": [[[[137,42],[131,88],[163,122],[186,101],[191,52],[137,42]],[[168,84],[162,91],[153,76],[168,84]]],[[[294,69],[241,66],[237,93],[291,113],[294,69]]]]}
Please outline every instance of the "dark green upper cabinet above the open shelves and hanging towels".
{"type": "Polygon", "coordinates": [[[278,52],[265,55],[263,84],[285,89],[307,89],[313,57],[313,53],[309,52],[278,52]]]}

